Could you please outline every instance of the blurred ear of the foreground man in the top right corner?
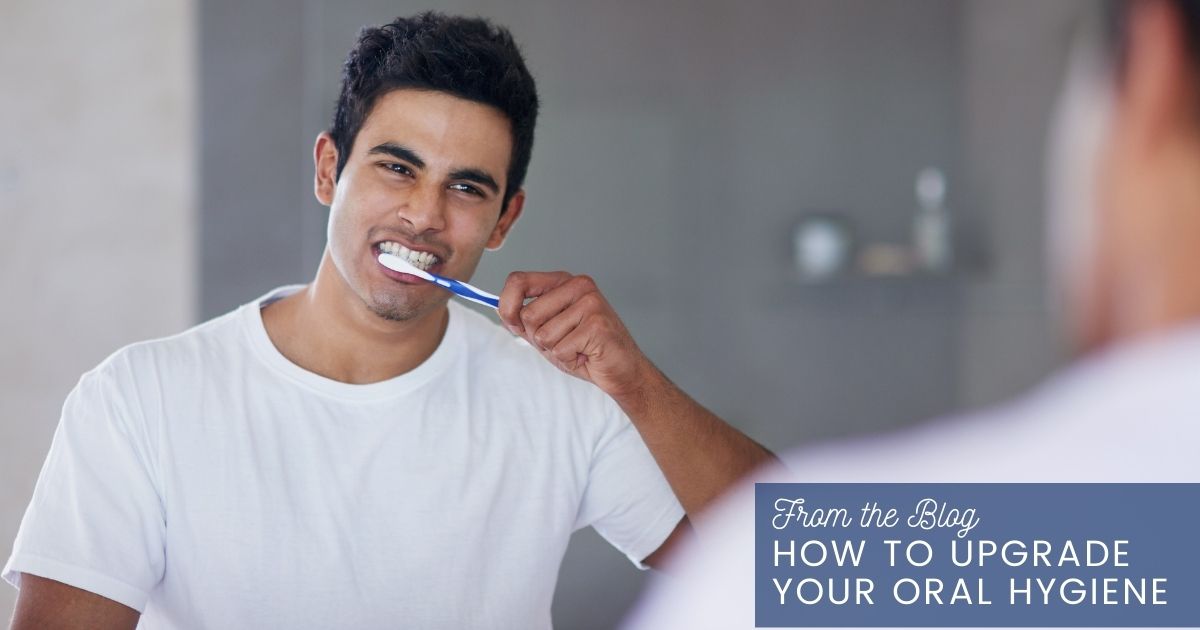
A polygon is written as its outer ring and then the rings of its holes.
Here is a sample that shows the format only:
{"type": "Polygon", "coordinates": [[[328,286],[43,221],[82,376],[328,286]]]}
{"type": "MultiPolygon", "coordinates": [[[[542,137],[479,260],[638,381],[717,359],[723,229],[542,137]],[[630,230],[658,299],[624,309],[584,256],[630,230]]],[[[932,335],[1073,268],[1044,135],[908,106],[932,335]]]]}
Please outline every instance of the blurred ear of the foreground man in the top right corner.
{"type": "Polygon", "coordinates": [[[1163,0],[1134,2],[1128,24],[1121,104],[1136,149],[1148,149],[1174,139],[1195,114],[1187,35],[1178,10],[1163,0]]]}

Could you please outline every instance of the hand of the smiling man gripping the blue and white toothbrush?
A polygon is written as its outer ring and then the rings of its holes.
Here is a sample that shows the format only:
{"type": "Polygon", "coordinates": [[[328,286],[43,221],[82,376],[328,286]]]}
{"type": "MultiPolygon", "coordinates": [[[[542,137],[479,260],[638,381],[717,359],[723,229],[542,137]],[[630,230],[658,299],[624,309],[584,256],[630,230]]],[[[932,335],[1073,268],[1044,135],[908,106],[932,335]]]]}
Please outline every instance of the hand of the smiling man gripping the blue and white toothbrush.
{"type": "Polygon", "coordinates": [[[499,314],[509,330],[559,370],[595,384],[618,401],[632,395],[653,371],[588,276],[515,271],[500,292],[499,314]]]}

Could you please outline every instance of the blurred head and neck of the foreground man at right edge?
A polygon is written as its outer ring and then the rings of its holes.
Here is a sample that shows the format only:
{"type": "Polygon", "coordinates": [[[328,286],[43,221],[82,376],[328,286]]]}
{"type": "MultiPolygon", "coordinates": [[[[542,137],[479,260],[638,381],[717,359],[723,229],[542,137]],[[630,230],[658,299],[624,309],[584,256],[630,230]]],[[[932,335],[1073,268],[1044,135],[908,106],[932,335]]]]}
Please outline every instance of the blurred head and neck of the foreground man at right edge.
{"type": "Polygon", "coordinates": [[[1110,2],[1049,148],[1050,260],[1078,350],[1200,317],[1200,2],[1110,2]]]}

